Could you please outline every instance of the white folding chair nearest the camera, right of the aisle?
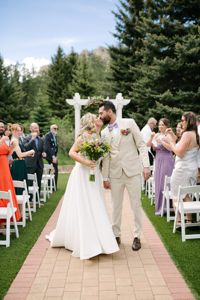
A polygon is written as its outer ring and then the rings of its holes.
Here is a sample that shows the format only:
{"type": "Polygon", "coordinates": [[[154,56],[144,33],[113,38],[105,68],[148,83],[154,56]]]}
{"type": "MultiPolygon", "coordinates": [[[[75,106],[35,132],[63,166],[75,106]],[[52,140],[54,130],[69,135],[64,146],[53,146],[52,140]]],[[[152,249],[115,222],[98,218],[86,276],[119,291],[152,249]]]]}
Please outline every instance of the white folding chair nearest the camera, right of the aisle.
{"type": "Polygon", "coordinates": [[[184,214],[197,214],[197,222],[200,220],[200,202],[199,202],[199,193],[200,193],[200,185],[193,185],[190,187],[181,187],[179,185],[178,188],[178,199],[177,202],[174,203],[176,207],[176,214],[175,214],[175,220],[174,220],[174,228],[173,232],[176,232],[176,227],[181,226],[181,232],[182,232],[182,241],[184,242],[187,238],[200,238],[200,234],[185,234],[185,226],[200,226],[199,223],[185,223],[185,217],[184,214]],[[196,193],[197,198],[196,201],[190,201],[190,202],[183,202],[183,199],[181,198],[181,195],[183,194],[192,194],[196,193]],[[181,214],[181,224],[177,223],[178,219],[178,212],[181,214]]]}

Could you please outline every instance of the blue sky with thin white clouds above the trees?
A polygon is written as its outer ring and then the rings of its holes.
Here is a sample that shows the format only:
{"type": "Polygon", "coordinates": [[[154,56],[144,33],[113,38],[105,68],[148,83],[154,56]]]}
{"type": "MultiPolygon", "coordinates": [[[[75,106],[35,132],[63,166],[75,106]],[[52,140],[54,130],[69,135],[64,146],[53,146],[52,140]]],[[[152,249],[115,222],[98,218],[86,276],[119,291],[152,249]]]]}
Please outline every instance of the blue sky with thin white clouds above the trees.
{"type": "Polygon", "coordinates": [[[118,0],[0,0],[0,53],[4,61],[46,64],[60,44],[66,54],[116,44],[118,0]],[[29,59],[30,60],[30,59],[29,59]]]}

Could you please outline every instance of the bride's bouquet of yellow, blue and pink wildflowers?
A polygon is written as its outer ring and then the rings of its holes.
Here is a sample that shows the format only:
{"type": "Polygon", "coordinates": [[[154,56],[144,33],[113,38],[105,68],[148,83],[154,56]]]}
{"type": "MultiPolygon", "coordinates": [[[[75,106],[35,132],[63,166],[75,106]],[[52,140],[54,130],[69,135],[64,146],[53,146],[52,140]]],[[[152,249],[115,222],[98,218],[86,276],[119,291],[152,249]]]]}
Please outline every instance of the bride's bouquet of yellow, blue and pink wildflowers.
{"type": "MultiPolygon", "coordinates": [[[[90,159],[91,161],[97,161],[100,157],[104,155],[109,155],[109,149],[113,143],[113,138],[110,141],[106,140],[105,134],[100,137],[99,134],[92,134],[92,139],[89,140],[86,134],[82,134],[82,143],[79,145],[80,152],[83,153],[83,156],[90,159]]],[[[90,170],[89,181],[95,181],[95,170],[90,170]]]]}

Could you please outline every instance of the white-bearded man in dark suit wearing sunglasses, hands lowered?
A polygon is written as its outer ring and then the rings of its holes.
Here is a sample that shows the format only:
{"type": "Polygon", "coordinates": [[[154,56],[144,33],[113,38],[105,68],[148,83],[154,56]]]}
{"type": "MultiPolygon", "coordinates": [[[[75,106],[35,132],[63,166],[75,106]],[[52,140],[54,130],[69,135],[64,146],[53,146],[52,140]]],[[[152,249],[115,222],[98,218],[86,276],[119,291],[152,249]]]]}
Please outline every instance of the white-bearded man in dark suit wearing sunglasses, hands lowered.
{"type": "Polygon", "coordinates": [[[56,140],[56,134],[58,133],[58,126],[51,125],[50,131],[44,136],[44,149],[46,152],[46,160],[49,164],[53,164],[55,170],[55,187],[57,188],[58,181],[58,162],[57,162],[57,152],[58,152],[58,142],[56,140]]]}

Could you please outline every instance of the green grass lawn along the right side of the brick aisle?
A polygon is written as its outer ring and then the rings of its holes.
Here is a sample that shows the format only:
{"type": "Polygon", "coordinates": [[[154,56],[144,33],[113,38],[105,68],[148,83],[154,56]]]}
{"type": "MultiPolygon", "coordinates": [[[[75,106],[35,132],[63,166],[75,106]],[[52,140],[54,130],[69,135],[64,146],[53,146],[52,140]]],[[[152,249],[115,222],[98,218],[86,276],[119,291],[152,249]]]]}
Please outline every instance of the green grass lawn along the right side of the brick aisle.
{"type": "MultiPolygon", "coordinates": [[[[200,300],[200,239],[187,239],[182,242],[181,232],[173,233],[174,221],[167,222],[167,217],[155,215],[155,205],[142,191],[142,208],[156,229],[170,257],[182,274],[188,287],[197,300],[200,300]]],[[[193,215],[195,221],[196,215],[193,215]]],[[[188,229],[186,233],[189,234],[188,229]]],[[[190,234],[195,232],[190,232],[190,234]]],[[[200,233],[200,231],[196,232],[200,233]]],[[[174,279],[176,282],[176,279],[174,279]]]]}

